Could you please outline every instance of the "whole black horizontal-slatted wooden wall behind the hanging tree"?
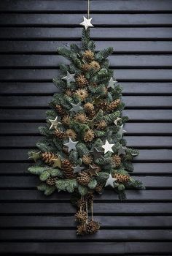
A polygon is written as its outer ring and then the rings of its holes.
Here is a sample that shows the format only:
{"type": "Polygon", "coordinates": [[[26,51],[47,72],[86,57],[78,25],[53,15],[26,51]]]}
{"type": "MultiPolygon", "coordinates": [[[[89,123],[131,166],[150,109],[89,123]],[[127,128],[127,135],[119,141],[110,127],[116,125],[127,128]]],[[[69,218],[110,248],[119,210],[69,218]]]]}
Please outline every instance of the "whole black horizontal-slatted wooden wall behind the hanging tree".
{"type": "Polygon", "coordinates": [[[79,42],[84,0],[0,1],[0,253],[16,255],[172,255],[172,1],[94,0],[91,34],[113,46],[123,86],[128,146],[140,149],[133,176],[146,185],[120,203],[95,198],[101,230],[76,238],[69,195],[45,197],[27,173],[27,151],[40,138],[63,58],[59,45],[79,42]]]}

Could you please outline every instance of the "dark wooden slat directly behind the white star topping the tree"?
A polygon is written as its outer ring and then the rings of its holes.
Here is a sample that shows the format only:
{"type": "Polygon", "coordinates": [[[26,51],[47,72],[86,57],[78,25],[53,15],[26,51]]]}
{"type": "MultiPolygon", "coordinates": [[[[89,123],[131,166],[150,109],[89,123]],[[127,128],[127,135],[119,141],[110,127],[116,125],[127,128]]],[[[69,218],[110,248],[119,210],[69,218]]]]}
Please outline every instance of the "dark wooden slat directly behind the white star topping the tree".
{"type": "MultiPolygon", "coordinates": [[[[94,26],[120,26],[120,25],[159,25],[167,26],[172,23],[171,14],[93,14],[94,26]]],[[[80,14],[2,14],[1,26],[79,26],[82,22],[80,14]]]]}

